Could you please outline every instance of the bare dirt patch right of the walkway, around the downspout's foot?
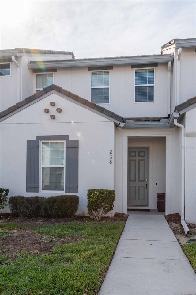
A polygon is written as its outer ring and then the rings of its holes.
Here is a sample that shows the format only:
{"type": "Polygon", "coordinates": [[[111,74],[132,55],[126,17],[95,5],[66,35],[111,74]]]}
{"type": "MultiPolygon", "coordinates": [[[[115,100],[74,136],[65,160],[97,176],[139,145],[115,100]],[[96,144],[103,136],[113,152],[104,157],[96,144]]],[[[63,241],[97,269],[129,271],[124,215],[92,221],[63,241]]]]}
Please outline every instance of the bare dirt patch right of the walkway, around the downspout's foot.
{"type": "Polygon", "coordinates": [[[178,213],[166,215],[165,218],[180,244],[187,243],[188,239],[196,239],[196,224],[187,224],[189,233],[185,235],[178,213]]]}

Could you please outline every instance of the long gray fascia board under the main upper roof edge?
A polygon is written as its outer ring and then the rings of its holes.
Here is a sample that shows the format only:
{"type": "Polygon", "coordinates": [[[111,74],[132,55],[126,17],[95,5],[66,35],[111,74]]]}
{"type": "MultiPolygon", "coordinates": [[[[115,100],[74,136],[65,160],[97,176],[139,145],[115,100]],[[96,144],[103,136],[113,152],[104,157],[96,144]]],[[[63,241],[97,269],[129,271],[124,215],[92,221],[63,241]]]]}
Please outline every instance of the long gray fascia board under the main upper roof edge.
{"type": "Polygon", "coordinates": [[[66,60],[66,61],[37,61],[28,64],[29,69],[40,68],[40,65],[45,68],[61,68],[61,67],[85,67],[85,66],[110,66],[123,64],[144,64],[144,63],[167,63],[173,61],[171,55],[161,56],[145,56],[145,57],[130,57],[130,58],[114,58],[114,59],[94,59],[94,60],[66,60]]]}

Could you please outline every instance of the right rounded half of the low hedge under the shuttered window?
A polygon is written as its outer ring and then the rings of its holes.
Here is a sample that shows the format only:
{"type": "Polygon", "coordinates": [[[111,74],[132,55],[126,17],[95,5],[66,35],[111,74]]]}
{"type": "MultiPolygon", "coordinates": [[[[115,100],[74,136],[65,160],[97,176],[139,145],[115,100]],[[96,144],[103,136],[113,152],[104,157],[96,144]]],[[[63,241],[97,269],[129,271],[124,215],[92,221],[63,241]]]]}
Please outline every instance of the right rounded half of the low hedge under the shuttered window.
{"type": "Polygon", "coordinates": [[[45,200],[44,216],[63,218],[73,216],[79,204],[79,197],[75,195],[52,196],[45,200]]]}

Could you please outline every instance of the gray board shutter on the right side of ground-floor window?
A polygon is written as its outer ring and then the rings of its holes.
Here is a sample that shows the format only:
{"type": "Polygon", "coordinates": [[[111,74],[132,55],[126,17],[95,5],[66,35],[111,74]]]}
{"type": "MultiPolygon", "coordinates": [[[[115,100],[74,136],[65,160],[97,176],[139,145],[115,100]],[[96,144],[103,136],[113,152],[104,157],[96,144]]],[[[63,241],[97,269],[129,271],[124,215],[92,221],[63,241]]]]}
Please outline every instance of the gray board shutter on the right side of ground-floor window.
{"type": "Polygon", "coordinates": [[[65,192],[78,193],[78,144],[79,140],[66,140],[65,192]]]}

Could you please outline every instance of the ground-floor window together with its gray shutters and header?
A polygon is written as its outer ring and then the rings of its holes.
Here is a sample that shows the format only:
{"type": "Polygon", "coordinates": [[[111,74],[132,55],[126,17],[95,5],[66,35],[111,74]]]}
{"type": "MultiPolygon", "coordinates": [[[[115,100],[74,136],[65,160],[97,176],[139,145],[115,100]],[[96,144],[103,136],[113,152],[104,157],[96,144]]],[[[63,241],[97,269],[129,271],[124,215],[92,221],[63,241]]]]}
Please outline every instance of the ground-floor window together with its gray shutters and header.
{"type": "Polygon", "coordinates": [[[27,140],[26,192],[78,193],[78,150],[79,140],[70,140],[69,135],[27,140]]]}

